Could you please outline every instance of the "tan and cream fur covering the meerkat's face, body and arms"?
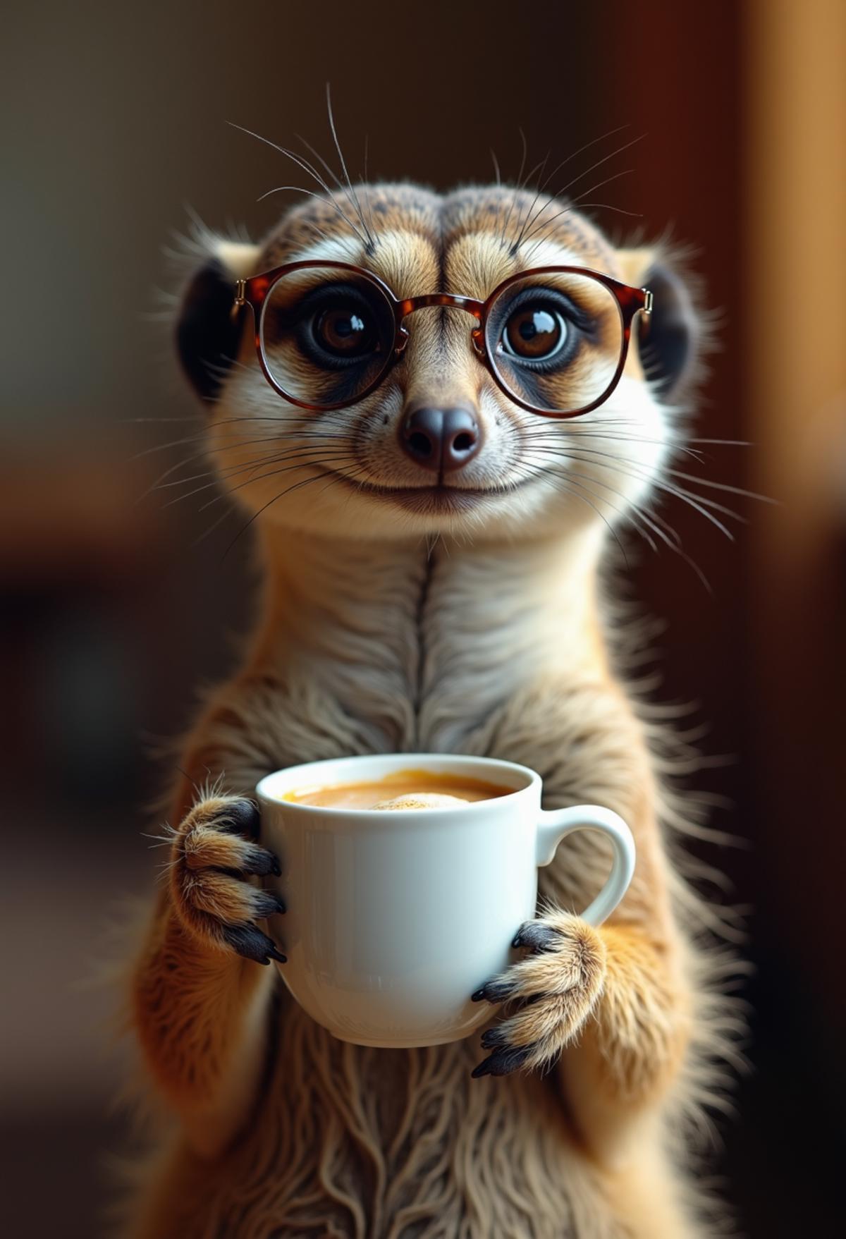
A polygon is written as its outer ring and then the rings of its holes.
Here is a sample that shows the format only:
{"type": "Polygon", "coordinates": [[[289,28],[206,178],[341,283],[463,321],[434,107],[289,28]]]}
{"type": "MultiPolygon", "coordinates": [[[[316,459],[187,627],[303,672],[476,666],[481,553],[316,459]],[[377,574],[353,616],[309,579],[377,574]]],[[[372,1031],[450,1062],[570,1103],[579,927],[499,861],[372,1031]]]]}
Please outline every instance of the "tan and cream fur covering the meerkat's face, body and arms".
{"type": "MultiPolygon", "coordinates": [[[[400,295],[484,296],[524,261],[512,244],[530,196],[358,192],[382,238],[372,254],[317,201],[285,217],[254,270],[343,252],[400,295]]],[[[560,203],[540,207],[529,265],[543,250],[544,261],[643,274],[649,254],[618,256],[573,212],[556,218],[560,203]]],[[[633,357],[604,406],[578,425],[545,424],[550,441],[587,445],[578,461],[590,503],[541,472],[534,487],[437,519],[327,486],[307,456],[316,425],[344,445],[341,472],[354,457],[370,479],[406,484],[414,466],[396,449],[396,420],[426,398],[479,411],[478,484],[508,476],[518,457],[534,467],[526,436],[544,426],[473,361],[464,316],[415,320],[383,388],[317,419],[264,384],[245,331],[243,366],[213,410],[209,442],[230,486],[239,470],[255,471],[249,440],[263,434],[279,436],[265,451],[284,445],[285,484],[318,486],[261,513],[261,620],[242,670],[212,694],[181,757],[188,778],[219,784],[193,794],[183,782],[175,797],[170,885],[133,971],[139,1042],[175,1116],[129,1208],[125,1234],[135,1239],[712,1233],[679,1124],[713,1092],[709,1063],[725,1028],[718,965],[694,944],[707,911],[664,846],[679,815],[661,773],[666,731],[613,670],[600,574],[608,524],[647,493],[675,431],[633,357]],[[606,455],[592,457],[592,447],[606,455]],[[408,1052],[343,1044],[292,1002],[273,968],[227,947],[228,926],[263,912],[250,876],[260,845],[228,820],[256,779],[303,761],[414,750],[523,762],[541,773],[547,808],[601,803],[635,836],[633,885],[601,929],[573,913],[607,872],[604,843],[577,834],[541,870],[544,943],[492,979],[507,1001],[503,1011],[492,1005],[489,1048],[530,1047],[514,1074],[472,1079],[484,1057],[478,1038],[408,1052]]],[[[279,477],[259,475],[240,498],[258,513],[279,489],[279,477]]],[[[284,940],[284,916],[274,932],[284,940]]]]}

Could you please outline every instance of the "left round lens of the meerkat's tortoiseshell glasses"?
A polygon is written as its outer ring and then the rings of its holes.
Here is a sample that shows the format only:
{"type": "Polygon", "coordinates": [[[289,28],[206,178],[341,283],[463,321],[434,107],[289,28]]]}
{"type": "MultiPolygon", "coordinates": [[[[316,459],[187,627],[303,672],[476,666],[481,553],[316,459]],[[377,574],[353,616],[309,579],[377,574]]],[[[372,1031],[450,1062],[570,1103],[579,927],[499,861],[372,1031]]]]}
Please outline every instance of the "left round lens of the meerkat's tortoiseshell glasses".
{"type": "Polygon", "coordinates": [[[260,339],[265,366],[286,395],[321,409],[352,404],[390,359],[394,313],[365,276],[311,266],[273,285],[260,339]]]}

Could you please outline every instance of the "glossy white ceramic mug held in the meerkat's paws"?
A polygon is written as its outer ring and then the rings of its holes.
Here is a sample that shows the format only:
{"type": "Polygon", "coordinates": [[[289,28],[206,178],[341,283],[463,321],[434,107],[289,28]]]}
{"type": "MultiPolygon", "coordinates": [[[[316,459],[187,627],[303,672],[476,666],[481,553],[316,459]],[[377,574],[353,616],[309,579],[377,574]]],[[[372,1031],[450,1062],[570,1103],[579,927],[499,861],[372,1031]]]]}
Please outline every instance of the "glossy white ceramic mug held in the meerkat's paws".
{"type": "MultiPolygon", "coordinates": [[[[256,788],[261,839],[280,859],[268,885],[287,913],[271,933],[294,997],[342,1041],[409,1048],[458,1041],[491,1018],[471,995],[517,958],[512,939],[535,916],[538,866],[572,830],[613,844],[608,881],[582,917],[593,926],[623,898],[634,841],[598,805],[544,812],[540,776],[483,757],[393,753],[292,766],[256,788]],[[461,808],[347,809],[281,799],[336,783],[425,769],[513,792],[461,808]]],[[[390,797],[390,790],[386,797],[390,797]]]]}

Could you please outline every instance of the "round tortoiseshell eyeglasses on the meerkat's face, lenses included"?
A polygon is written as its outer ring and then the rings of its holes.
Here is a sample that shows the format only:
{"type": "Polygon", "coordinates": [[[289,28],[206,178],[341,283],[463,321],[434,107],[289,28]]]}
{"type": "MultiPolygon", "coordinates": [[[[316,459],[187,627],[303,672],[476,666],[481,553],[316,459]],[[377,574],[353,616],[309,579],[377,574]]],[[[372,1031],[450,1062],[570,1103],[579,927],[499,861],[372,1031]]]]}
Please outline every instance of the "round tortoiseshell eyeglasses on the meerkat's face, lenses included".
{"type": "Polygon", "coordinates": [[[301,409],[343,409],[369,395],[403,356],[405,318],[443,306],[476,320],[472,348],[510,400],[576,418],[617,387],[632,322],[652,312],[652,292],[581,266],[540,266],[503,280],[486,301],[403,299],[360,266],[310,259],[238,280],[233,313],[244,305],[265,378],[301,409]]]}

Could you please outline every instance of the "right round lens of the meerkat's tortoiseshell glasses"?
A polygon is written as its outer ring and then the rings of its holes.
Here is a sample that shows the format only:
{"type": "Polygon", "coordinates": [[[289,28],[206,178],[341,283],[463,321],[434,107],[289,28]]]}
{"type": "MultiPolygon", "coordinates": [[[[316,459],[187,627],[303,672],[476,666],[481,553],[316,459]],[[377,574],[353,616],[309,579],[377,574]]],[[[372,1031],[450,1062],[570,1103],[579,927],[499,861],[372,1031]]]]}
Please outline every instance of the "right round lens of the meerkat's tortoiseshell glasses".
{"type": "Polygon", "coordinates": [[[617,299],[590,275],[538,271],[503,289],[491,307],[489,356],[503,385],[541,413],[576,413],[601,400],[623,352],[617,299]]]}

